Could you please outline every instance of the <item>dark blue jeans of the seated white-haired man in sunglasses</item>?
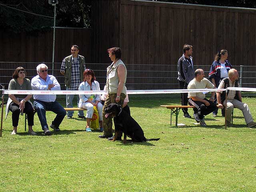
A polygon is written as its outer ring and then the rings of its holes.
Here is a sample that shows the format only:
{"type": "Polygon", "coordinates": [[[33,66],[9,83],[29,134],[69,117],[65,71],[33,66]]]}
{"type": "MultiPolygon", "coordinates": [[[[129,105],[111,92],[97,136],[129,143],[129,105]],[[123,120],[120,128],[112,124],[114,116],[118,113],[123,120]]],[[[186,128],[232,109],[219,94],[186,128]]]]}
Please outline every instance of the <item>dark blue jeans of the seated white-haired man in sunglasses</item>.
{"type": "Polygon", "coordinates": [[[37,110],[37,115],[40,120],[42,130],[48,128],[47,121],[46,121],[46,110],[50,110],[54,112],[56,117],[52,121],[52,124],[59,127],[62,120],[66,115],[66,110],[57,102],[44,102],[40,100],[34,100],[34,108],[37,110]]]}

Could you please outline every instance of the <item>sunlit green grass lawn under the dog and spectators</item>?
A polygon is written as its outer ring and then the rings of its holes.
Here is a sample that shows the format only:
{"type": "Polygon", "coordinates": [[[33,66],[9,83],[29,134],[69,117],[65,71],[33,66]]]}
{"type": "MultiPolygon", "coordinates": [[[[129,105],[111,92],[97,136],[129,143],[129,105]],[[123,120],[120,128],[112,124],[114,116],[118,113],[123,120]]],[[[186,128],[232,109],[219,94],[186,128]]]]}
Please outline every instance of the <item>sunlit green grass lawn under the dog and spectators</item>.
{"type": "MultiPolygon", "coordinates": [[[[256,98],[243,102],[255,117],[256,98]]],[[[146,138],[160,140],[128,144],[100,139],[97,131],[85,132],[86,121],[76,118],[65,118],[61,132],[44,136],[37,114],[37,136],[24,132],[23,116],[13,136],[10,113],[0,138],[0,191],[255,191],[256,129],[246,127],[240,110],[234,110],[234,127],[227,130],[223,117],[209,114],[208,126],[200,127],[182,112],[179,123],[186,126],[175,128],[170,127],[170,110],[161,104],[180,102],[178,97],[130,97],[132,117],[146,138]]],[[[47,112],[49,124],[54,116],[47,112]]]]}

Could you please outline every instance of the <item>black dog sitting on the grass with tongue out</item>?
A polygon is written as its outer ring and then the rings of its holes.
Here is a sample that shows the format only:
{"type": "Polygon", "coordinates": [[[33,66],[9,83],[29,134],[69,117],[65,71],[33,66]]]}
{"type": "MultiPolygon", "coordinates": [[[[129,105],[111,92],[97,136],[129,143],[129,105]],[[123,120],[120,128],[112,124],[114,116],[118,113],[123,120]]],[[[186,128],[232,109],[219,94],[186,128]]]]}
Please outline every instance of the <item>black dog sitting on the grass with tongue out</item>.
{"type": "Polygon", "coordinates": [[[118,131],[124,132],[124,143],[126,143],[126,136],[130,137],[134,142],[143,142],[143,141],[158,141],[157,139],[147,139],[144,137],[144,132],[140,125],[124,110],[121,106],[116,103],[110,104],[105,108],[107,118],[108,116],[114,117],[115,125],[115,137],[112,141],[117,139],[118,131]]]}

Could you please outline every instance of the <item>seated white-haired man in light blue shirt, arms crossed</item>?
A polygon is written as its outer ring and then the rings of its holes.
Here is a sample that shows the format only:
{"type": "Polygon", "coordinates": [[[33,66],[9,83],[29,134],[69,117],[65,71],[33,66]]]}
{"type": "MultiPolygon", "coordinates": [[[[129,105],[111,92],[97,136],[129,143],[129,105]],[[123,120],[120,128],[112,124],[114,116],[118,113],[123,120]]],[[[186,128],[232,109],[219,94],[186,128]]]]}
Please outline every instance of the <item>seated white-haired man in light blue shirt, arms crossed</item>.
{"type": "MultiPolygon", "coordinates": [[[[36,70],[38,75],[31,80],[33,90],[60,90],[60,84],[54,76],[48,75],[48,67],[45,64],[39,64],[36,70]]],[[[46,121],[46,110],[57,114],[50,127],[54,131],[60,131],[59,126],[66,115],[66,110],[56,101],[56,95],[34,94],[34,108],[37,110],[37,115],[45,135],[51,135],[46,121]]]]}

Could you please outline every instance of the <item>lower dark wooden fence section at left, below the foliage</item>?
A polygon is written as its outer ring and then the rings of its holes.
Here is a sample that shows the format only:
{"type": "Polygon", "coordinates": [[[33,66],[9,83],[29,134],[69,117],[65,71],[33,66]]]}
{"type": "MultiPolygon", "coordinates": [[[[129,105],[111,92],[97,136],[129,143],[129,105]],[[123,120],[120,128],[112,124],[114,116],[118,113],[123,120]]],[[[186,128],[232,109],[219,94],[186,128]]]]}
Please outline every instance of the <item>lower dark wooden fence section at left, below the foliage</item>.
{"type": "MultiPolygon", "coordinates": [[[[52,62],[53,29],[33,34],[0,30],[0,61],[4,62],[52,62]]],[[[79,54],[92,62],[92,29],[56,28],[55,62],[62,62],[70,55],[70,46],[76,44],[79,54]]]]}

